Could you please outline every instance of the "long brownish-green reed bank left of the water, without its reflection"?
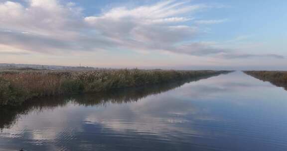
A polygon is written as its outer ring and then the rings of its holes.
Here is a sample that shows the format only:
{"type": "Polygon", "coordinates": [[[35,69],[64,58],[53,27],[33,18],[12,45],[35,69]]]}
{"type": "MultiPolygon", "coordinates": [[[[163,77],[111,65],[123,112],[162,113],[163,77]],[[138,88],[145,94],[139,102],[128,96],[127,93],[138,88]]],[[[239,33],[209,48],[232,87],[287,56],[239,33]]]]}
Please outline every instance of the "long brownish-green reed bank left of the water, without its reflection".
{"type": "Polygon", "coordinates": [[[229,71],[95,70],[0,71],[0,106],[20,105],[43,96],[95,93],[167,83],[229,71]]]}

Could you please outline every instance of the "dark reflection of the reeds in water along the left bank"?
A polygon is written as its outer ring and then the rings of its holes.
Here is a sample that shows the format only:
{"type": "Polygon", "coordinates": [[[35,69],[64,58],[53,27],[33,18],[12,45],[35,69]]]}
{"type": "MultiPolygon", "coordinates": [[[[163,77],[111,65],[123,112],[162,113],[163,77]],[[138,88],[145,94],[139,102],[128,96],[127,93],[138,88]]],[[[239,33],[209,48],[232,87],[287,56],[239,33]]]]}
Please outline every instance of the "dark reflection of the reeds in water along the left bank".
{"type": "Polygon", "coordinates": [[[137,102],[148,95],[156,95],[168,90],[182,86],[185,83],[206,79],[215,75],[202,76],[191,80],[178,80],[169,83],[129,87],[113,91],[105,91],[92,94],[72,94],[49,96],[31,99],[20,106],[0,106],[0,131],[13,125],[19,115],[27,115],[29,112],[42,112],[46,109],[53,109],[58,106],[65,106],[69,102],[82,106],[105,106],[106,104],[121,104],[137,102]]]}

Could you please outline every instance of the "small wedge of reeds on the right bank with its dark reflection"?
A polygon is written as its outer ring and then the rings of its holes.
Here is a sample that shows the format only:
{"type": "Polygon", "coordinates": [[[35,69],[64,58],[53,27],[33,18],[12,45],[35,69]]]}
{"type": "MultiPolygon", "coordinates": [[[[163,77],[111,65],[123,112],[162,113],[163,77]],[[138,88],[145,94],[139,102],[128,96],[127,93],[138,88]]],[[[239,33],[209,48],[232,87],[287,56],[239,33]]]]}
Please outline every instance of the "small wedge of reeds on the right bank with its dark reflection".
{"type": "Polygon", "coordinates": [[[244,73],[263,81],[269,81],[272,84],[284,87],[287,90],[286,71],[244,71],[244,73]]]}

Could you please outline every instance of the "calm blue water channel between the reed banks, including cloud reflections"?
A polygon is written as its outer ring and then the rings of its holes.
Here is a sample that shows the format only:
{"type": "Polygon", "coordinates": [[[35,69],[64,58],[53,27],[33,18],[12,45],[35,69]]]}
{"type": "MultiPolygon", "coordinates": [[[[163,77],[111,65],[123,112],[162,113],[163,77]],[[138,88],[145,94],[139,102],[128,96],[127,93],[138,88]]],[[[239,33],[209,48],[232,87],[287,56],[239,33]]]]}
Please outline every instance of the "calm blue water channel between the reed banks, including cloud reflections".
{"type": "Polygon", "coordinates": [[[0,109],[0,151],[287,151],[287,91],[241,72],[0,109]]]}

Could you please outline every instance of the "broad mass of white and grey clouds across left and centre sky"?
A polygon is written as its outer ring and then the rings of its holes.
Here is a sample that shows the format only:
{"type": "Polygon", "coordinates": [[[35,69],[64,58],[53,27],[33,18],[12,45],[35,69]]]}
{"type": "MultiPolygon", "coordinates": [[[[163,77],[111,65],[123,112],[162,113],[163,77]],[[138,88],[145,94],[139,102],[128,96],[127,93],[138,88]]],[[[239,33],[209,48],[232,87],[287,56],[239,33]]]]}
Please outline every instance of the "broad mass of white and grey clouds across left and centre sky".
{"type": "Polygon", "coordinates": [[[117,48],[193,56],[228,54],[220,47],[190,42],[200,34],[200,24],[225,21],[198,20],[191,26],[189,21],[194,12],[213,7],[210,5],[165,0],[135,8],[115,7],[97,16],[85,16],[82,8],[72,2],[26,2],[0,2],[1,45],[49,54],[117,48]]]}

